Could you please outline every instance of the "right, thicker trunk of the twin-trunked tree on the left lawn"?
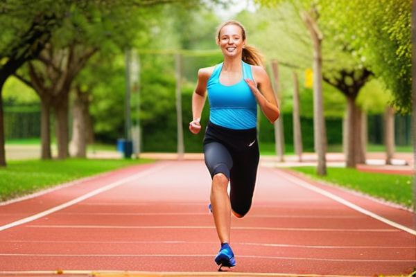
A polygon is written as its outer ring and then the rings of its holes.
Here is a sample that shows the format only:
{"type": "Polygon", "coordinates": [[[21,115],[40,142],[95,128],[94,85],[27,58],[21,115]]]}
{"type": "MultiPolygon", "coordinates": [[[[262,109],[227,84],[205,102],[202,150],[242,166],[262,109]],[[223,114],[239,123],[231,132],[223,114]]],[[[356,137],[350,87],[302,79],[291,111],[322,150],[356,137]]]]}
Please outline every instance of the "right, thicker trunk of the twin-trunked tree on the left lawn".
{"type": "Polygon", "coordinates": [[[69,157],[69,96],[68,93],[61,93],[60,99],[53,103],[55,113],[55,133],[58,143],[58,159],[69,157]]]}

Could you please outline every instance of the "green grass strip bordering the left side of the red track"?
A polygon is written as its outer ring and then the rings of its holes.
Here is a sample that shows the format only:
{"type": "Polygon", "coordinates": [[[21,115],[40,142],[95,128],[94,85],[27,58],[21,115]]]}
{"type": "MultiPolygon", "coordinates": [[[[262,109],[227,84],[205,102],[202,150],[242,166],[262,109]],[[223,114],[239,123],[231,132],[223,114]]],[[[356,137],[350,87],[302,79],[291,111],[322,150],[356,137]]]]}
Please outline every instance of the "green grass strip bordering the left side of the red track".
{"type": "Polygon", "coordinates": [[[8,161],[0,168],[0,202],[101,172],[147,163],[146,159],[8,161]]]}

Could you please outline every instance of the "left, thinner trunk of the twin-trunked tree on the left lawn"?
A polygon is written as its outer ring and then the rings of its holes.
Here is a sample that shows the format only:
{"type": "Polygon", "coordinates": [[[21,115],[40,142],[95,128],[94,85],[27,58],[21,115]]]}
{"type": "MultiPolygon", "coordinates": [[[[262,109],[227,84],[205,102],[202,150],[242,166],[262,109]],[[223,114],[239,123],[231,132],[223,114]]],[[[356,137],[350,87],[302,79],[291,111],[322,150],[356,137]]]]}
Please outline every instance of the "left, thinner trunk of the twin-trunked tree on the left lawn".
{"type": "Polygon", "coordinates": [[[40,98],[42,111],[40,121],[40,158],[43,160],[51,159],[51,105],[48,98],[40,98]]]}

